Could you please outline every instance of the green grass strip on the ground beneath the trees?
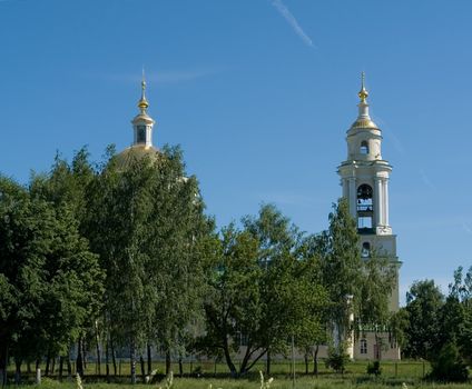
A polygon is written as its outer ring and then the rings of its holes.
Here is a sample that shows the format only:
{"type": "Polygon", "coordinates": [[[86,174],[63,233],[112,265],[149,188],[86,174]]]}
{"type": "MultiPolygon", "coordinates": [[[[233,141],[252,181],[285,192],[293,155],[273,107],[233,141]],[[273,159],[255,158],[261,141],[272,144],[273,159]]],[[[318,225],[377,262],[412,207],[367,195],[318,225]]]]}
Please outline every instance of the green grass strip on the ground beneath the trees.
{"type": "MultiPolygon", "coordinates": [[[[73,367],[73,366],[72,366],[73,367]]],[[[258,389],[260,388],[258,370],[265,371],[265,363],[260,362],[256,366],[247,377],[242,379],[229,379],[228,369],[224,363],[215,363],[212,361],[200,361],[193,363],[184,363],[184,377],[178,377],[178,365],[173,365],[173,371],[175,372],[173,389],[258,389]],[[191,372],[191,373],[190,373],[191,372]],[[191,375],[191,377],[190,377],[191,375]]],[[[323,362],[319,363],[319,375],[314,377],[312,375],[305,375],[305,363],[297,361],[295,365],[295,388],[296,389],[374,389],[374,388],[456,388],[465,389],[471,388],[471,383],[464,385],[448,385],[448,383],[430,383],[422,380],[423,376],[429,372],[429,365],[422,361],[400,361],[400,362],[382,362],[382,375],[377,378],[366,375],[366,361],[351,362],[347,367],[347,371],[341,376],[334,373],[325,368],[323,362]]],[[[159,380],[155,380],[153,383],[144,385],[140,375],[140,366],[137,363],[137,373],[139,383],[135,385],[136,389],[145,388],[165,388],[164,380],[164,363],[153,363],[153,369],[157,369],[159,380]]],[[[309,365],[309,371],[313,370],[313,363],[309,365]]],[[[111,377],[112,383],[106,383],[105,378],[105,366],[101,366],[101,376],[97,375],[97,367],[95,363],[87,365],[87,372],[82,380],[83,389],[125,389],[131,387],[129,383],[129,363],[122,361],[118,366],[117,377],[111,377]]],[[[110,372],[112,373],[112,367],[110,366],[110,372]]],[[[66,375],[66,372],[65,372],[66,375]]],[[[10,381],[13,378],[13,371],[9,372],[10,381]]],[[[289,360],[274,361],[272,363],[272,373],[274,382],[271,389],[292,389],[292,367],[289,360]]],[[[266,377],[268,378],[268,377],[266,377]]],[[[31,382],[33,375],[23,375],[24,382],[31,382]]],[[[37,386],[29,383],[29,387],[36,388],[37,386]]],[[[58,380],[58,371],[55,371],[48,378],[42,379],[42,383],[38,388],[43,389],[58,389],[69,388],[76,389],[75,379],[63,378],[62,382],[58,380]]]]}

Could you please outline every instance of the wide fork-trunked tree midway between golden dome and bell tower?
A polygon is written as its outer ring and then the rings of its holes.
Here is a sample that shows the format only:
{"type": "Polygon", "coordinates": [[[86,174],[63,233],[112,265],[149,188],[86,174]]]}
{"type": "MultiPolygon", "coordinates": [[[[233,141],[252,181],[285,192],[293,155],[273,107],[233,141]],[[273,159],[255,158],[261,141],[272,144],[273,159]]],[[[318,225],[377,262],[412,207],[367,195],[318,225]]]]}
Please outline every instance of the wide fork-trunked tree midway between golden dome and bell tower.
{"type": "Polygon", "coordinates": [[[302,235],[275,207],[263,206],[257,217],[243,219],[243,227],[224,229],[214,251],[207,333],[200,341],[215,355],[220,350],[234,376],[266,353],[269,369],[271,352],[286,351],[287,339],[302,342],[311,330],[319,330],[316,313],[325,299],[308,277],[313,262],[304,261],[302,235]],[[237,371],[232,353],[239,346],[237,371]]]}

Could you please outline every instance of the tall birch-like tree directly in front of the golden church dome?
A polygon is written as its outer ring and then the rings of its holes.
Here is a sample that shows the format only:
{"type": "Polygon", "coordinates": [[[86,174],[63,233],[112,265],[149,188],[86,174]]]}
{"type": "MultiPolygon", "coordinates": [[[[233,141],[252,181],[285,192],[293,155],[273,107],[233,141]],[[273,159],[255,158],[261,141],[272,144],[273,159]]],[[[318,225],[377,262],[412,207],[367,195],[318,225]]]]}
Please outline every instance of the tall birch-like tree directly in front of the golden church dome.
{"type": "Polygon", "coordinates": [[[203,210],[178,148],[164,148],[157,160],[131,159],[125,169],[111,158],[90,189],[88,226],[107,273],[110,343],[129,346],[132,381],[145,343],[159,342],[169,369],[170,351],[199,316],[198,247],[213,229],[203,210]]]}

